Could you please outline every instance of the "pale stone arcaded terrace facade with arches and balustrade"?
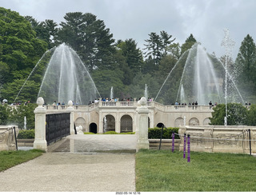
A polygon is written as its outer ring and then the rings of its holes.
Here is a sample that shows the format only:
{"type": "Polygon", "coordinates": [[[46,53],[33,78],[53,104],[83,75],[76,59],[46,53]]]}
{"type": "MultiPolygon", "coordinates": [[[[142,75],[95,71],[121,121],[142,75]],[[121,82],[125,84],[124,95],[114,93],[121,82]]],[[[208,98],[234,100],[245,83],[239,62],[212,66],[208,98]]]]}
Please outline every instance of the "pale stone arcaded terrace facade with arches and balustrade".
{"type": "MultiPolygon", "coordinates": [[[[149,109],[149,127],[154,128],[158,124],[166,127],[178,127],[180,125],[207,125],[211,113],[208,105],[192,107],[188,105],[162,105],[155,101],[147,101],[149,109]],[[185,117],[185,120],[184,120],[185,117]]],[[[46,105],[46,113],[66,112],[66,106],[46,105]]],[[[104,117],[110,121],[108,129],[117,133],[122,131],[135,132],[137,126],[138,101],[99,101],[91,105],[73,105],[74,123],[82,125],[83,132],[103,133],[104,117]],[[93,130],[95,129],[95,130],[93,130]]]]}

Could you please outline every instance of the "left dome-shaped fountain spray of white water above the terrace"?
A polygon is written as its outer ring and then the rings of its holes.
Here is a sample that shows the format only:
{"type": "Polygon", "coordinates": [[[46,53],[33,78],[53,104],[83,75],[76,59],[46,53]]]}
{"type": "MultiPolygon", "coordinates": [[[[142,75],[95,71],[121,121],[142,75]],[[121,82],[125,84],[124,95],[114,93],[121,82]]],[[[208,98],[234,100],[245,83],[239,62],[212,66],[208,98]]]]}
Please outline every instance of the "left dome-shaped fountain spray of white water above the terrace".
{"type": "MultiPolygon", "coordinates": [[[[44,98],[48,104],[72,100],[85,105],[101,97],[81,58],[64,43],[42,56],[26,79],[29,81],[37,83],[38,97],[44,98]]],[[[27,94],[26,82],[18,96],[27,94]]]]}

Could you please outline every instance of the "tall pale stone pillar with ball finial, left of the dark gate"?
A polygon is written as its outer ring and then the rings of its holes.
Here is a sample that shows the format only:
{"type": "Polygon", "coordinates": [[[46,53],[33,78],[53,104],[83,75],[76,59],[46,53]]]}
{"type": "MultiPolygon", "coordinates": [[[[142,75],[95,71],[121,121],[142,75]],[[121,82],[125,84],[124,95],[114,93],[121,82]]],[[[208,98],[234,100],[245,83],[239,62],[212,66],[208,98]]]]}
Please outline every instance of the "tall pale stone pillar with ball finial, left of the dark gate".
{"type": "Polygon", "coordinates": [[[42,107],[44,100],[39,97],[37,100],[38,107],[34,109],[34,149],[47,151],[46,141],[46,108],[42,107]]]}

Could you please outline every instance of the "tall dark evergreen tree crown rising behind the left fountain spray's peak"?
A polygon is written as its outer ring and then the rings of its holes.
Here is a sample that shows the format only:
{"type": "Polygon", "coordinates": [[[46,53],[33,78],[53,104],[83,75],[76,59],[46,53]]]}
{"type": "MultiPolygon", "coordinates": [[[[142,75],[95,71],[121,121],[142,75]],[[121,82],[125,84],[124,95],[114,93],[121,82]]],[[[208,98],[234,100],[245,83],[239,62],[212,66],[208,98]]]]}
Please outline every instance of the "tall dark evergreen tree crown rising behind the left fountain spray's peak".
{"type": "Polygon", "coordinates": [[[94,14],[81,12],[67,13],[66,22],[58,31],[58,41],[69,44],[82,61],[95,68],[109,68],[113,64],[114,39],[102,20],[94,14]]]}

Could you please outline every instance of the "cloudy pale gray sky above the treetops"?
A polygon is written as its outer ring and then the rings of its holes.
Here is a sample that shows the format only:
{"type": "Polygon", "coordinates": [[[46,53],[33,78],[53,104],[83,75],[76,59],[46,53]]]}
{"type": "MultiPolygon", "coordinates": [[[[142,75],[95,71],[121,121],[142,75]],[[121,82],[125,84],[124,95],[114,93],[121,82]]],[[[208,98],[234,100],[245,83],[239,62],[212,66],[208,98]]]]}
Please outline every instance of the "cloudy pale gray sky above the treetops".
{"type": "Polygon", "coordinates": [[[68,12],[89,12],[105,22],[115,40],[133,38],[141,49],[148,34],[161,30],[181,44],[193,34],[217,57],[225,54],[226,28],[235,41],[233,58],[247,34],[256,39],[255,0],[0,0],[0,6],[39,22],[59,23],[68,12]]]}

